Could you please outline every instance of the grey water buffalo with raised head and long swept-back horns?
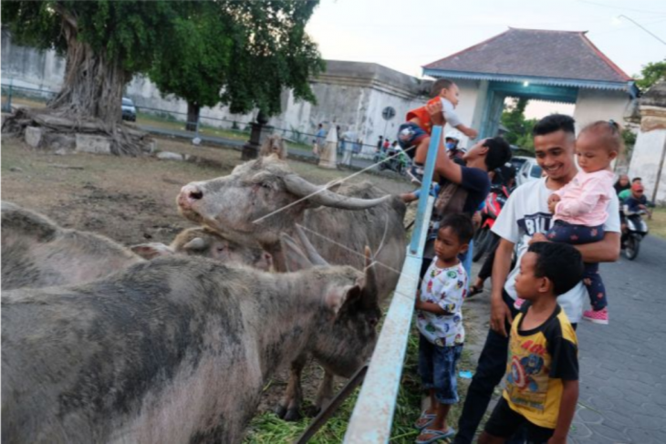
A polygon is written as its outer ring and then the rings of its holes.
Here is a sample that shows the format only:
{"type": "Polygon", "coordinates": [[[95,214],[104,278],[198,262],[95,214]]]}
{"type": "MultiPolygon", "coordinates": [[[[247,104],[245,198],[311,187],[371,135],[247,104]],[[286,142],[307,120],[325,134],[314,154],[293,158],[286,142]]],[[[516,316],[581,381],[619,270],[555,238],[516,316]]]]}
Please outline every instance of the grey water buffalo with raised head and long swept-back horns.
{"type": "Polygon", "coordinates": [[[280,234],[302,224],[317,251],[333,264],[363,267],[363,248],[377,251],[379,294],[398,283],[406,253],[405,205],[369,182],[312,184],[276,156],[237,166],[228,176],[182,187],[182,215],[213,230],[252,236],[284,271],[280,234]],[[338,188],[337,192],[330,191],[338,188]]]}

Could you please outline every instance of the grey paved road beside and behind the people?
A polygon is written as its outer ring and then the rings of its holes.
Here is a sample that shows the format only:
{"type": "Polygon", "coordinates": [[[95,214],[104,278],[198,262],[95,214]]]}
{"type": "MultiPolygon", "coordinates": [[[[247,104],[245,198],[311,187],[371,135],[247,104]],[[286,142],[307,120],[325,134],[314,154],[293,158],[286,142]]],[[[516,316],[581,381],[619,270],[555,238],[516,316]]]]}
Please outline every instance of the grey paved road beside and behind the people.
{"type": "MultiPolygon", "coordinates": [[[[635,261],[622,256],[601,273],[610,324],[578,325],[580,397],[569,441],[666,444],[666,241],[649,236],[635,261]]],[[[489,284],[465,303],[481,322],[479,344],[465,345],[476,353],[488,328],[489,284]]]]}

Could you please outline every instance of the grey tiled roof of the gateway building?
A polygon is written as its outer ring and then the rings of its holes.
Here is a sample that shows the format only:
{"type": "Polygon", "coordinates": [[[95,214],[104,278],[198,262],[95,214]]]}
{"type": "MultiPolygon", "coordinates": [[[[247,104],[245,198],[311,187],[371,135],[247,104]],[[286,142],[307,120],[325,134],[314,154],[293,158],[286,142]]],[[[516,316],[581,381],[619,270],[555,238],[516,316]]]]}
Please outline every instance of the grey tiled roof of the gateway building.
{"type": "Polygon", "coordinates": [[[631,81],[631,77],[601,53],[585,34],[509,28],[423,69],[586,82],[627,84],[631,81]]]}

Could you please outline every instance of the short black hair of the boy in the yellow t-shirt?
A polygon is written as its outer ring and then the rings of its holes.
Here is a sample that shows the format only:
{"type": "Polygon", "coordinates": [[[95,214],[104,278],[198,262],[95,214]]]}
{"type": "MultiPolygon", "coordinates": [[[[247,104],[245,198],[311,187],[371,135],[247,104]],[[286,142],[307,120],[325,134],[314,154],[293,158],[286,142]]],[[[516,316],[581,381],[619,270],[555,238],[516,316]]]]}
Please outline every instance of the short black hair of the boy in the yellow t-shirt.
{"type": "Polygon", "coordinates": [[[567,293],[583,280],[583,256],[568,243],[532,243],[527,251],[538,255],[535,276],[547,277],[555,295],[567,293]]]}

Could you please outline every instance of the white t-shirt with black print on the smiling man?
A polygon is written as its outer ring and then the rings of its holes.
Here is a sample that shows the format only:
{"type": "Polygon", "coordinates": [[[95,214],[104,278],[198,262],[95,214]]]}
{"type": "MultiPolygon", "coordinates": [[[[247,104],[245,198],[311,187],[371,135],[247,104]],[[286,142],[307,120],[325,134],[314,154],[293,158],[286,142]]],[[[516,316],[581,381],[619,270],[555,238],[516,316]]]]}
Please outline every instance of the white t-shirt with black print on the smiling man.
{"type": "MultiPolygon", "coordinates": [[[[548,212],[548,197],[553,193],[546,187],[546,178],[524,183],[509,196],[502,212],[493,225],[493,232],[515,243],[517,263],[506,277],[505,291],[516,299],[515,277],[520,271],[520,259],[529,247],[529,241],[537,232],[550,230],[553,215],[548,212]]],[[[615,193],[609,201],[609,218],[604,223],[605,232],[619,232],[619,201],[615,193]]],[[[581,282],[572,290],[561,294],[557,303],[562,306],[572,323],[578,323],[583,314],[583,304],[588,300],[588,292],[581,282]]]]}

